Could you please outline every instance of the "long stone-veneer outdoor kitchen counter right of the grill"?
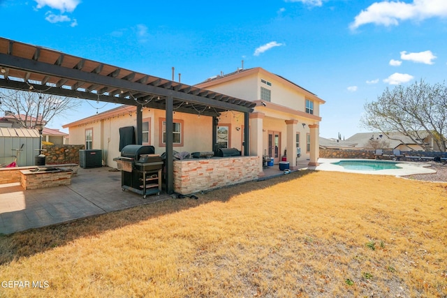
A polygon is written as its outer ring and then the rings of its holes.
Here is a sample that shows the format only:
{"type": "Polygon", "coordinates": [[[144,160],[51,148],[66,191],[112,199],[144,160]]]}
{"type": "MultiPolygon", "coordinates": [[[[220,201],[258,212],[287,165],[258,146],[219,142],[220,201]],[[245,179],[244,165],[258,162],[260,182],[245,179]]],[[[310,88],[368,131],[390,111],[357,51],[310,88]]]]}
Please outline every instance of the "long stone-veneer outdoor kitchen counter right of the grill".
{"type": "Polygon", "coordinates": [[[258,156],[189,158],[174,161],[174,191],[183,195],[258,179],[258,156]]]}

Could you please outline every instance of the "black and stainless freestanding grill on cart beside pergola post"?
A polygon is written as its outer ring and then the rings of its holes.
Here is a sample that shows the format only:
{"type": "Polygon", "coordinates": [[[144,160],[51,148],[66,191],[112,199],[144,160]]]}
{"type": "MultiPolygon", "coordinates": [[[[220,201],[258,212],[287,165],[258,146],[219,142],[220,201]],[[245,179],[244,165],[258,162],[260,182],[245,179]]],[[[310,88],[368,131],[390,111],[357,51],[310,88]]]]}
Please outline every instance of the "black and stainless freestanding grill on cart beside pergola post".
{"type": "Polygon", "coordinates": [[[161,156],[154,154],[153,146],[127,145],[121,156],[113,158],[121,170],[122,190],[147,195],[159,195],[161,191],[161,156]]]}

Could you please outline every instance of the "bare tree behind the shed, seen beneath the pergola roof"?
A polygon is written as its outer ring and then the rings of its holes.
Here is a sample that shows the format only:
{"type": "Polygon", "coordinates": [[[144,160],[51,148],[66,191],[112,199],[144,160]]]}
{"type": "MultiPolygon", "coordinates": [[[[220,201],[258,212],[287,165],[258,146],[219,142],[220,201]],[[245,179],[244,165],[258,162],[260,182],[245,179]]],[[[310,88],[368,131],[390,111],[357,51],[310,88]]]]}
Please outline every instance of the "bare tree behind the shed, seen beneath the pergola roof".
{"type": "Polygon", "coordinates": [[[45,125],[55,116],[66,114],[80,105],[74,98],[42,94],[36,91],[0,89],[0,111],[13,117],[24,128],[45,125]]]}

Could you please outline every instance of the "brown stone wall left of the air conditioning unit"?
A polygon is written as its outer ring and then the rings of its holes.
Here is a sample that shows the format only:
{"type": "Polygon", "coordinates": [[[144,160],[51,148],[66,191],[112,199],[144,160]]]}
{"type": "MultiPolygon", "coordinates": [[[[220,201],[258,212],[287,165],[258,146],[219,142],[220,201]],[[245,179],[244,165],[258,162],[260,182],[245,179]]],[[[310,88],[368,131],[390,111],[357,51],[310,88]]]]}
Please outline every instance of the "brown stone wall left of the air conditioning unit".
{"type": "Polygon", "coordinates": [[[63,163],[79,164],[79,150],[84,149],[84,145],[42,145],[42,149],[46,149],[45,164],[60,165],[63,163]]]}

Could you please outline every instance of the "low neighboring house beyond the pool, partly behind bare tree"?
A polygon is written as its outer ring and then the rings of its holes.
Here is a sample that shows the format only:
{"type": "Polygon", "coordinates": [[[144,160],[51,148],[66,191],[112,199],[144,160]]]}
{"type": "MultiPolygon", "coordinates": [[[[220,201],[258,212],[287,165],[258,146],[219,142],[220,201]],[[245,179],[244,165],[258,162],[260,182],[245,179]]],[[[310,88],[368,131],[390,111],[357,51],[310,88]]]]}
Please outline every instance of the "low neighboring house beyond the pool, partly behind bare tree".
{"type": "MultiPolygon", "coordinates": [[[[391,132],[388,136],[383,133],[356,133],[355,135],[347,138],[344,141],[331,142],[329,139],[324,139],[321,144],[325,148],[338,148],[338,149],[370,149],[371,141],[380,141],[383,144],[388,144],[386,148],[381,149],[400,149],[402,151],[425,151],[422,143],[425,146],[430,147],[431,151],[439,151],[436,143],[432,140],[432,137],[425,133],[425,138],[420,140],[419,143],[411,140],[410,137],[402,135],[402,133],[391,132]],[[349,147],[349,148],[346,148],[349,147]]],[[[321,139],[320,139],[321,140],[321,139]]],[[[378,148],[379,149],[379,148],[378,148]]]]}

